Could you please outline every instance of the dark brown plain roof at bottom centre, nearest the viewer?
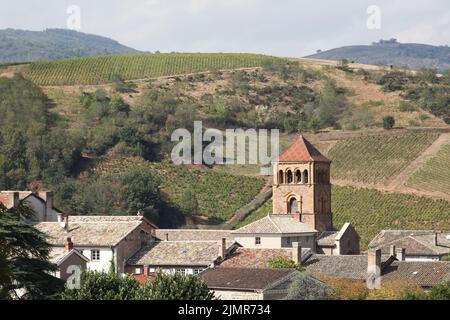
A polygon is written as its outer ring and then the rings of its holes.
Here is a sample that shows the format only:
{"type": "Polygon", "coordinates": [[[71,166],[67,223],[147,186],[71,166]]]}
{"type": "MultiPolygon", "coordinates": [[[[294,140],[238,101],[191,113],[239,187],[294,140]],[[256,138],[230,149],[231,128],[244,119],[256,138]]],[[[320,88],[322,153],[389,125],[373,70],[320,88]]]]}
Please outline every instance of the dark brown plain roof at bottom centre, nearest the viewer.
{"type": "Polygon", "coordinates": [[[213,290],[259,291],[289,280],[297,273],[294,269],[214,268],[205,270],[200,277],[213,290]]]}

